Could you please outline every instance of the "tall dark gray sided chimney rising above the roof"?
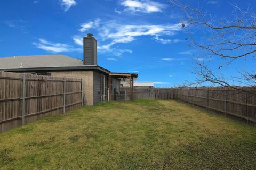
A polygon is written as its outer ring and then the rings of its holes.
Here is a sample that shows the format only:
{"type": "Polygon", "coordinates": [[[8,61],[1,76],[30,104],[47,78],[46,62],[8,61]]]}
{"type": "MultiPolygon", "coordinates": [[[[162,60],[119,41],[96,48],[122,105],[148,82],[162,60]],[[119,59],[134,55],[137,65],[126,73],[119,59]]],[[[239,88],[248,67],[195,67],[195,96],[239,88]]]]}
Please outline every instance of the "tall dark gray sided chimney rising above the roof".
{"type": "Polygon", "coordinates": [[[84,37],[84,65],[97,65],[97,40],[91,33],[84,37]]]}

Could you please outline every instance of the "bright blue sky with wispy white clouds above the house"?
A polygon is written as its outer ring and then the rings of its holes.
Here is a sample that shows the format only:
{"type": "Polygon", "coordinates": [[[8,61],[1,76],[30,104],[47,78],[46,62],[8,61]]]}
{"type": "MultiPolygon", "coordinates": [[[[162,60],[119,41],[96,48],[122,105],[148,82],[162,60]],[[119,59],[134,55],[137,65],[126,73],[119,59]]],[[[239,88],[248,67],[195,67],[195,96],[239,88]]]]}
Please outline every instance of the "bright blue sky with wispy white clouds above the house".
{"type": "MultiPolygon", "coordinates": [[[[9,0],[0,2],[0,57],[64,54],[83,58],[82,37],[98,40],[98,65],[113,72],[134,72],[138,81],[171,87],[193,81],[198,54],[185,41],[181,11],[167,1],[150,0],[9,0]]],[[[185,1],[186,2],[186,1],[185,1]]],[[[227,1],[187,1],[218,17],[230,16],[227,1]]],[[[256,5],[255,1],[243,3],[256,5]]],[[[196,33],[196,32],[195,32],[196,33]]],[[[220,61],[215,58],[215,67],[220,61]]],[[[226,75],[253,68],[255,61],[237,60],[226,75]]]]}

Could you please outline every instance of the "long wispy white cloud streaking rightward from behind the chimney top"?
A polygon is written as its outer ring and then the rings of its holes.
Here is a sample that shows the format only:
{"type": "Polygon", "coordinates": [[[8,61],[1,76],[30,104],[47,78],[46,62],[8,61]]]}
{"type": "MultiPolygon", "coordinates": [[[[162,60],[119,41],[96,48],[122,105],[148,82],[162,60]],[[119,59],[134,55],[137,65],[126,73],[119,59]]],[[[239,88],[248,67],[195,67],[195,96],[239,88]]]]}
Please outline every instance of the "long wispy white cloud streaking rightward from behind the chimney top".
{"type": "MultiPolygon", "coordinates": [[[[162,36],[172,36],[181,31],[180,24],[169,25],[126,25],[118,24],[116,21],[100,23],[100,19],[81,24],[79,31],[95,29],[98,32],[98,50],[100,53],[111,53],[121,56],[123,53],[132,53],[130,49],[116,49],[112,46],[117,43],[130,43],[141,36],[152,36],[154,40],[161,43],[177,43],[180,40],[168,40],[162,36]],[[100,26],[100,27],[99,27],[100,26]]],[[[82,36],[73,36],[74,43],[83,46],[82,36]]]]}

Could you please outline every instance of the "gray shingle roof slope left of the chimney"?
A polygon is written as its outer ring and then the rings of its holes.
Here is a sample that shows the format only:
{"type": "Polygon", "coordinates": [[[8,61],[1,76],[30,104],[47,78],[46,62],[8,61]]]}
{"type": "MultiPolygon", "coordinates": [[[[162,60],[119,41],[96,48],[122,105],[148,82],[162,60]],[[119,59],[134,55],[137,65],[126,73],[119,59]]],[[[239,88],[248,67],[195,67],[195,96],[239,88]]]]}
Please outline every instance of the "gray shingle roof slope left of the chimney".
{"type": "MultiPolygon", "coordinates": [[[[65,55],[30,55],[0,57],[0,69],[76,67],[85,66],[83,61],[65,55]]],[[[86,65],[95,66],[95,65],[86,65]]]]}

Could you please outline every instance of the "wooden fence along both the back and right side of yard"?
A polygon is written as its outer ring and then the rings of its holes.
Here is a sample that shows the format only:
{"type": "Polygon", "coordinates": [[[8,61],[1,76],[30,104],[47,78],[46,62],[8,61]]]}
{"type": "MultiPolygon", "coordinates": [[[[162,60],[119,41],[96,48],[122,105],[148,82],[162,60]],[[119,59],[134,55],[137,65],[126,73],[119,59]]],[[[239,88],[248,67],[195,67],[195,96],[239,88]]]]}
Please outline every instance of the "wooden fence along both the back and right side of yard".
{"type": "MultiPolygon", "coordinates": [[[[129,94],[129,88],[122,87],[121,90],[129,94]]],[[[134,88],[133,99],[180,100],[255,124],[256,95],[249,88],[246,91],[222,87],[134,88]]]]}

